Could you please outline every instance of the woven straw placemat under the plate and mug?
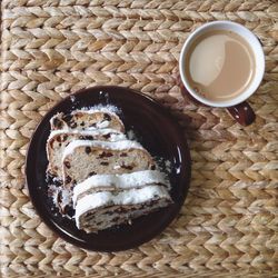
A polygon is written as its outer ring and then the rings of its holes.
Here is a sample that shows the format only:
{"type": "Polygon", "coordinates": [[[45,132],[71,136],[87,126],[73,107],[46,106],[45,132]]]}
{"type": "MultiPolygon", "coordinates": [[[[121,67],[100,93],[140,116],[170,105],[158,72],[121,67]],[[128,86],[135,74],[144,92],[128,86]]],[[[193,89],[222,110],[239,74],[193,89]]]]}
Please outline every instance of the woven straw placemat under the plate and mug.
{"type": "MultiPolygon", "coordinates": [[[[3,0],[0,269],[2,277],[270,277],[278,272],[277,1],[3,0]],[[252,30],[264,82],[241,127],[198,107],[177,86],[188,34],[211,20],[252,30]],[[119,85],[168,107],[189,140],[188,199],[162,235],[121,252],[90,252],[58,238],[36,214],[24,156],[41,117],[80,88],[119,85]]],[[[136,108],[135,108],[136,109],[136,108]]]]}

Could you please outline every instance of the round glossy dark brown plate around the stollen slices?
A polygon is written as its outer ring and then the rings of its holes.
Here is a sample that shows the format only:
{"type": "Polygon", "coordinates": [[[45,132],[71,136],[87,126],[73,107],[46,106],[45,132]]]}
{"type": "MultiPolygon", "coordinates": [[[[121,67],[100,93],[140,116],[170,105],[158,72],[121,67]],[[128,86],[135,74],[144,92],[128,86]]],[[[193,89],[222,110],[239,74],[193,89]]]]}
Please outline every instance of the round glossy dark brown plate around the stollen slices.
{"type": "Polygon", "coordinates": [[[90,250],[118,251],[139,246],[159,235],[178,215],[190,180],[190,153],[186,139],[165,108],[151,98],[121,87],[93,87],[78,91],[53,107],[37,127],[27,155],[26,176],[31,200],[42,220],[67,241],[90,250]],[[102,93],[100,93],[102,91],[102,93]],[[78,230],[73,220],[53,209],[47,193],[46,143],[50,133],[50,118],[57,112],[96,105],[113,105],[126,129],[133,129],[142,146],[156,157],[170,160],[169,173],[173,205],[132,221],[98,234],[78,230]]]}

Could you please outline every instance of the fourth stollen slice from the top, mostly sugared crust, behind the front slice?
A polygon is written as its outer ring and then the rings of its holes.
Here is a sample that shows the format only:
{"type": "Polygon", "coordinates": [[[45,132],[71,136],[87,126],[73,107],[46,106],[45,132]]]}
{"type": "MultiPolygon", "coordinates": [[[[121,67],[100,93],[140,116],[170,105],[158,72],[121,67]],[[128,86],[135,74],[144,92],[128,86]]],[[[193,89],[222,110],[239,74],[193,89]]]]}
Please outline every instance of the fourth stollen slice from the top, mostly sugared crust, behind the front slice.
{"type": "Polygon", "coordinates": [[[142,170],[130,173],[95,175],[73,188],[73,206],[87,195],[99,191],[119,192],[131,188],[142,188],[149,185],[170,187],[166,175],[158,170],[142,170]]]}

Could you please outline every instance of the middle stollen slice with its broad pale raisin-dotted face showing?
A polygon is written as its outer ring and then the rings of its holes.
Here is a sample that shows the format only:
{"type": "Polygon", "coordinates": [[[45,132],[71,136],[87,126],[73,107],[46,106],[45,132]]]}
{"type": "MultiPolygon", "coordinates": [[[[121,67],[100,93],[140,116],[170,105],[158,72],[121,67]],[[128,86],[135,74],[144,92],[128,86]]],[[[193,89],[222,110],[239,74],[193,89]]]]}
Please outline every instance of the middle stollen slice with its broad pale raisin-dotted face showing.
{"type": "Polygon", "coordinates": [[[155,167],[150,153],[136,141],[76,140],[63,151],[63,185],[71,187],[97,173],[123,173],[155,167]]]}

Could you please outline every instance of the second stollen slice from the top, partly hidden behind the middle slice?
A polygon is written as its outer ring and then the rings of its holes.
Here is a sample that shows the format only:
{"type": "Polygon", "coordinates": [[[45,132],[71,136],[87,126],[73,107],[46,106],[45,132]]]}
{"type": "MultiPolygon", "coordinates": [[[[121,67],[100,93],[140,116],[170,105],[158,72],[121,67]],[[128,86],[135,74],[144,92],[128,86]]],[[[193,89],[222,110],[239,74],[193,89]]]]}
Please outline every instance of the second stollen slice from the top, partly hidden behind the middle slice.
{"type": "Polygon", "coordinates": [[[62,178],[62,155],[64,148],[73,140],[125,140],[126,136],[115,129],[96,130],[53,130],[47,142],[49,160],[48,172],[62,178]]]}

